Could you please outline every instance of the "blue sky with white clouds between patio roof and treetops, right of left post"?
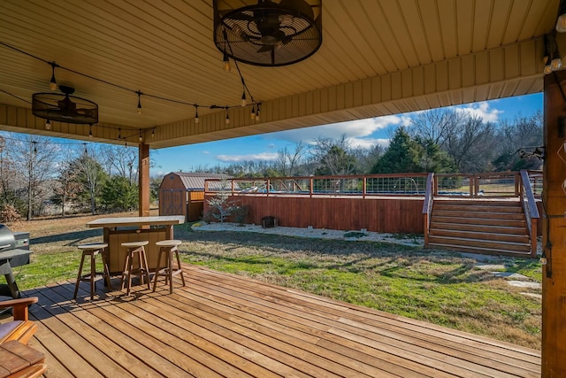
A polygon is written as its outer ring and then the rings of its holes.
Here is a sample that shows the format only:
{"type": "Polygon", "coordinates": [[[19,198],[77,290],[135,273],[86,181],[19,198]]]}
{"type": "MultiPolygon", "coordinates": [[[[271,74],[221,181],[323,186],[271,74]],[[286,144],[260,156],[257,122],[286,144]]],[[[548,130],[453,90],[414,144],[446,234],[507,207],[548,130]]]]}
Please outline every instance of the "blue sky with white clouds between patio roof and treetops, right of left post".
{"type": "MultiPolygon", "coordinates": [[[[517,115],[529,116],[542,110],[542,93],[516,96],[499,100],[455,106],[462,112],[470,112],[485,121],[512,120],[517,115]]],[[[190,172],[192,168],[224,166],[244,160],[269,161],[277,158],[278,151],[287,147],[293,151],[296,143],[305,144],[318,136],[338,138],[348,136],[350,145],[371,147],[375,143],[388,143],[388,138],[400,125],[407,125],[415,113],[355,120],[331,125],[279,131],[264,135],[246,136],[218,142],[190,144],[161,150],[151,150],[151,159],[156,166],[151,175],[170,172],[190,172]]]]}

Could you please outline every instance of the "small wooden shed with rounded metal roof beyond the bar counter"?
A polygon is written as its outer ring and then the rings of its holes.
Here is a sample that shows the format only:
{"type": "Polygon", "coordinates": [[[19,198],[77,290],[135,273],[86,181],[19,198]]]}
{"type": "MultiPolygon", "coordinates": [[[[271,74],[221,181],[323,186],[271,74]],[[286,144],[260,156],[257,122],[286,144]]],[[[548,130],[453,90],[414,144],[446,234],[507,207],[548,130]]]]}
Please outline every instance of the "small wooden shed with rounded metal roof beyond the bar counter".
{"type": "Polygon", "coordinates": [[[172,172],[159,186],[159,215],[185,215],[187,221],[203,215],[204,181],[230,179],[226,174],[172,172]]]}

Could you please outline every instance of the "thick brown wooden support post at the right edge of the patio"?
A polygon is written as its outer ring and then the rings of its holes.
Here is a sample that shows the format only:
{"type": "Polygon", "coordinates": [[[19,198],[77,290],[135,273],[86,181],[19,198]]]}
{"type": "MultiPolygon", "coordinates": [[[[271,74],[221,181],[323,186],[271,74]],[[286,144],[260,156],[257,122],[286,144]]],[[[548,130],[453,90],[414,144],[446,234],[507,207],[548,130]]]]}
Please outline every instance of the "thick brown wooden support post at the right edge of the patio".
{"type": "Polygon", "coordinates": [[[542,269],[542,378],[566,377],[566,72],[544,78],[544,141],[542,197],[543,248],[546,266],[542,269]]]}

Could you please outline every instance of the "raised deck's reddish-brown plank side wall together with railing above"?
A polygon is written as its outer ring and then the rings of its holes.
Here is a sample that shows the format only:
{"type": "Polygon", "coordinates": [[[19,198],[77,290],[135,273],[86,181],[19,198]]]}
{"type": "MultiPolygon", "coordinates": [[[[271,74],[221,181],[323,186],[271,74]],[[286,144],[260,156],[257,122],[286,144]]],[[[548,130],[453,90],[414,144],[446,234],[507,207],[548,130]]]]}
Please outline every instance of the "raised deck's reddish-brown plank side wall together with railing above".
{"type": "Polygon", "coordinates": [[[274,216],[279,226],[424,232],[426,237],[434,197],[517,197],[529,212],[530,232],[536,233],[541,189],[542,175],[527,171],[207,180],[204,212],[210,212],[208,200],[222,193],[227,203],[247,209],[245,223],[274,216]]]}

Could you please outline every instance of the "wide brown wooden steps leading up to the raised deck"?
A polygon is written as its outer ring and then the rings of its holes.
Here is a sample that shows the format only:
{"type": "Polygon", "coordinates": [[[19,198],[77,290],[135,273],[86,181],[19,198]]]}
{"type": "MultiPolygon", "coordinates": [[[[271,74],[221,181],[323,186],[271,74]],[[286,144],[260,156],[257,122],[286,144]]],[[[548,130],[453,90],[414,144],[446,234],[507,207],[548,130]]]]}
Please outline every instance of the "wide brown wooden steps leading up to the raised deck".
{"type": "Polygon", "coordinates": [[[531,256],[531,240],[518,198],[444,199],[432,204],[427,248],[531,256]]]}

